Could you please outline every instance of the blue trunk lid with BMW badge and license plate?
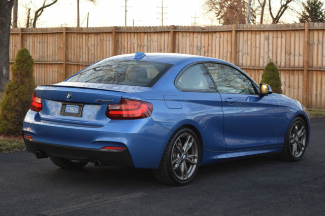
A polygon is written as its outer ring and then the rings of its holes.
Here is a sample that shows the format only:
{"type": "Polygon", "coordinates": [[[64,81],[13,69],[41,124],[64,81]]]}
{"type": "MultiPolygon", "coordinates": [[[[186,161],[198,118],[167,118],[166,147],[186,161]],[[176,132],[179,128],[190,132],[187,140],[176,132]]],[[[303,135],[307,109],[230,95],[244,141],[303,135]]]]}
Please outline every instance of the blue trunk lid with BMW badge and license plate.
{"type": "Polygon", "coordinates": [[[40,121],[72,126],[101,127],[110,119],[105,116],[108,104],[116,104],[126,92],[145,91],[148,87],[112,84],[61,82],[36,88],[42,99],[40,121]]]}

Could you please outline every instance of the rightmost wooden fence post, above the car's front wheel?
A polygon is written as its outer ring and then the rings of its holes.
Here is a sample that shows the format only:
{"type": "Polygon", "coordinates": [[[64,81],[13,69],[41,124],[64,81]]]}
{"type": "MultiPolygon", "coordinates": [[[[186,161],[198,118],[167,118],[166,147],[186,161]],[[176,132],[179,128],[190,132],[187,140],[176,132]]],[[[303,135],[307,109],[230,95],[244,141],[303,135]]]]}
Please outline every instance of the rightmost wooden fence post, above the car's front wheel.
{"type": "Polygon", "coordinates": [[[303,75],[303,104],[305,107],[308,106],[308,27],[309,23],[305,23],[305,35],[304,35],[304,75],[303,75]]]}

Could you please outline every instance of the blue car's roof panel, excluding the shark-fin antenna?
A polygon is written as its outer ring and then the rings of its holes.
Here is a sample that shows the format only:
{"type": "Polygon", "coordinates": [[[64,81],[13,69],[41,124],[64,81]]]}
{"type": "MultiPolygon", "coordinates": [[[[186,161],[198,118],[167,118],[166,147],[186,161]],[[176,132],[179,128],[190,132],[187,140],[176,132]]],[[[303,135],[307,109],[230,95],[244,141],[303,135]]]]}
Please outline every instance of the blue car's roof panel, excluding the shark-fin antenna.
{"type": "MultiPolygon", "coordinates": [[[[134,60],[134,57],[135,54],[125,54],[112,56],[103,60],[134,60]]],[[[145,53],[145,56],[141,58],[141,61],[155,61],[169,64],[178,64],[180,62],[193,63],[198,61],[214,61],[218,63],[231,64],[230,62],[216,58],[178,53],[145,53]]]]}

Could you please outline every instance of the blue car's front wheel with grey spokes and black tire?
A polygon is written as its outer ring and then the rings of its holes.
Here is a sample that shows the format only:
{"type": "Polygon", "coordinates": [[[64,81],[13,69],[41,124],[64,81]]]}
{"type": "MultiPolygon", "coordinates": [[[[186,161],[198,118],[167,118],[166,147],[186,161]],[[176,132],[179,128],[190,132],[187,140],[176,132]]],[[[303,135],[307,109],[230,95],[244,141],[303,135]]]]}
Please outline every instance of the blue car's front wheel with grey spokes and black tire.
{"type": "Polygon", "coordinates": [[[306,150],[307,126],[301,117],[295,118],[284,137],[282,152],[278,158],[285,161],[299,161],[306,150]]]}

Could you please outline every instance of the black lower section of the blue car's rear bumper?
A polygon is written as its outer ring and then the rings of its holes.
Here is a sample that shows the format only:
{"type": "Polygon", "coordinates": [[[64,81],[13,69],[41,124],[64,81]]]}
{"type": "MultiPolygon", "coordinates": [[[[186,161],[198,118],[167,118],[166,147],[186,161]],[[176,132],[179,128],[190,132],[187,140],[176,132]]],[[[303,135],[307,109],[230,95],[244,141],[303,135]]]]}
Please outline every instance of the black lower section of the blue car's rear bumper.
{"type": "Polygon", "coordinates": [[[123,150],[101,150],[55,145],[45,142],[31,141],[26,138],[24,138],[24,141],[28,152],[35,154],[39,151],[44,157],[57,156],[87,162],[99,160],[106,166],[134,166],[131,155],[126,148],[123,150]]]}

